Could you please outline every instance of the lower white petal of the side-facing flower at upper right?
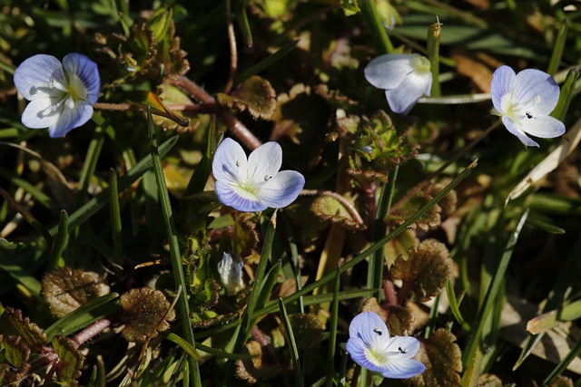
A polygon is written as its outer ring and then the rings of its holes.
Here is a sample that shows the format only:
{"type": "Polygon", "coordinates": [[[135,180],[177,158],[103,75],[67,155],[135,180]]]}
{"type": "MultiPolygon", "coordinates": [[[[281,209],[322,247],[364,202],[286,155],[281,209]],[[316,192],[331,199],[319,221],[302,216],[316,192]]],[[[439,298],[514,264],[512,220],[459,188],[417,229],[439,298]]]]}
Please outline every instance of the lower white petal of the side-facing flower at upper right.
{"type": "Polygon", "coordinates": [[[392,90],[387,90],[389,108],[398,114],[408,114],[422,95],[429,95],[432,85],[432,73],[409,73],[409,75],[392,90]]]}

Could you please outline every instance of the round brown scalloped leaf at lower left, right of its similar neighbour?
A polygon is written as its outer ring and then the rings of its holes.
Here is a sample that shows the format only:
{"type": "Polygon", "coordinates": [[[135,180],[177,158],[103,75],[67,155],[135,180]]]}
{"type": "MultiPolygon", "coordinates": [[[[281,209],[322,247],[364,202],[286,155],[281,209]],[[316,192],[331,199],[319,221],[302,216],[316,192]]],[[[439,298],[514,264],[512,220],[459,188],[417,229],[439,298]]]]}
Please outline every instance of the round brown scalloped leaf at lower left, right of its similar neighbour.
{"type": "Polygon", "coordinates": [[[122,334],[128,342],[143,342],[170,327],[175,312],[165,295],[151,287],[131,289],[121,295],[122,334]]]}

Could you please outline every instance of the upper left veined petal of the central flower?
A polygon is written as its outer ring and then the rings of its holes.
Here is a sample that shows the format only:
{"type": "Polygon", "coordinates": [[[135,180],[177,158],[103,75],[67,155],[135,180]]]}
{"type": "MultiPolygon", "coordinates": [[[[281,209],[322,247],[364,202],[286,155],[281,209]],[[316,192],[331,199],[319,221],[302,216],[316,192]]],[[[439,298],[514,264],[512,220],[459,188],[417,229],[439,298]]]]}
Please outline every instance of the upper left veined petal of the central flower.
{"type": "Polygon", "coordinates": [[[232,184],[245,181],[247,163],[246,153],[241,145],[235,140],[224,139],[216,149],[212,160],[214,179],[232,184]]]}

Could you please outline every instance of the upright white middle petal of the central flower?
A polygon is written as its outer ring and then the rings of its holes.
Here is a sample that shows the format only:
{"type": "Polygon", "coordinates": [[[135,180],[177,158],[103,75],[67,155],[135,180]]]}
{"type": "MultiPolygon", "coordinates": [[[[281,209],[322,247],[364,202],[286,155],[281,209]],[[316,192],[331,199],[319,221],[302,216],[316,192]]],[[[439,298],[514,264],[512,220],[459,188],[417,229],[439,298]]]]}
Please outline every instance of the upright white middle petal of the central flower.
{"type": "Polygon", "coordinates": [[[248,158],[248,181],[269,181],[282,165],[282,150],[278,142],[266,142],[251,152],[248,158]]]}

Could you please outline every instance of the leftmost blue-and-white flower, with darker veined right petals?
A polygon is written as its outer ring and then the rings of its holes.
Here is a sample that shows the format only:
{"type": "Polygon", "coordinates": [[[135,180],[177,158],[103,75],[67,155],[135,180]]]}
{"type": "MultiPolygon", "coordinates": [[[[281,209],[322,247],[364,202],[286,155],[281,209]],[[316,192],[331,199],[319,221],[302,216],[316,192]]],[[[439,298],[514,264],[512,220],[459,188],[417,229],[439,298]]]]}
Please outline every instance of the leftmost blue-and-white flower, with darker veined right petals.
{"type": "Polygon", "coordinates": [[[28,128],[48,128],[54,138],[91,119],[101,79],[97,65],[81,53],[67,54],[63,63],[41,53],[18,66],[15,86],[30,101],[22,123],[28,128]]]}

